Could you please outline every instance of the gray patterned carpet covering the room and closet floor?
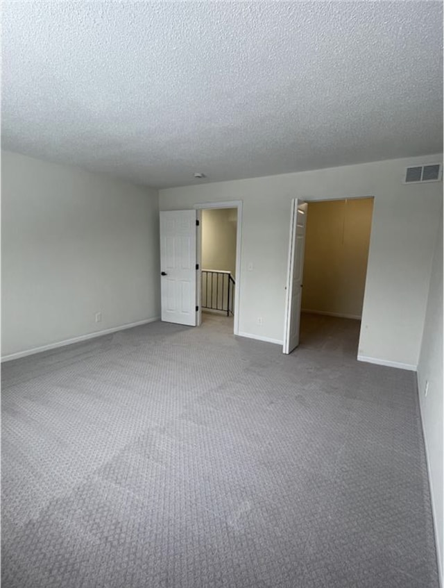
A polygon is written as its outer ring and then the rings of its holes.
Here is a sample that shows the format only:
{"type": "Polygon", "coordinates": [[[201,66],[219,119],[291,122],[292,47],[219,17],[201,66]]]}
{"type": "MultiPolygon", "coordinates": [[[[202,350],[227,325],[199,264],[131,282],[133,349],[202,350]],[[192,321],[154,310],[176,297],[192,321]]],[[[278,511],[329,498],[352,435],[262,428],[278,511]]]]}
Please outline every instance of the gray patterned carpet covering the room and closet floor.
{"type": "Polygon", "coordinates": [[[415,374],[155,323],[3,364],[3,588],[437,587],[415,374]]]}

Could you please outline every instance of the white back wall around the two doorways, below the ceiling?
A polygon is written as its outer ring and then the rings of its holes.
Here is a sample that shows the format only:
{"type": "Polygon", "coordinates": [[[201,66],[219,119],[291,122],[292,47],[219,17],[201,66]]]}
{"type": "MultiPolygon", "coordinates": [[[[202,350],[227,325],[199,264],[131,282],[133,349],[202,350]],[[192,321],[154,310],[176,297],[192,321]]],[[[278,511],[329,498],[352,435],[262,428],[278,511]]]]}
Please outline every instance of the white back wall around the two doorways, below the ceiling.
{"type": "Polygon", "coordinates": [[[434,154],[169,188],[159,192],[160,208],[243,201],[239,332],[282,342],[291,199],[374,196],[359,355],[415,369],[443,185],[402,178],[407,165],[441,160],[434,154]]]}

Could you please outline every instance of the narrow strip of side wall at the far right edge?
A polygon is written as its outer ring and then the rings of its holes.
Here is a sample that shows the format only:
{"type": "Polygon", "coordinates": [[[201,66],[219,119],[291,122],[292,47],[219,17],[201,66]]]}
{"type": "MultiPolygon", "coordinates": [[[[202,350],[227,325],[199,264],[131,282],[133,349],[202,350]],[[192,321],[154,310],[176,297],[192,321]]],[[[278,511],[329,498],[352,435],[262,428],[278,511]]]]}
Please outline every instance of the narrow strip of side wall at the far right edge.
{"type": "Polygon", "coordinates": [[[427,450],[438,564],[443,585],[443,217],[436,238],[424,334],[418,364],[418,392],[427,450]],[[425,388],[428,382],[427,396],[425,388]]]}

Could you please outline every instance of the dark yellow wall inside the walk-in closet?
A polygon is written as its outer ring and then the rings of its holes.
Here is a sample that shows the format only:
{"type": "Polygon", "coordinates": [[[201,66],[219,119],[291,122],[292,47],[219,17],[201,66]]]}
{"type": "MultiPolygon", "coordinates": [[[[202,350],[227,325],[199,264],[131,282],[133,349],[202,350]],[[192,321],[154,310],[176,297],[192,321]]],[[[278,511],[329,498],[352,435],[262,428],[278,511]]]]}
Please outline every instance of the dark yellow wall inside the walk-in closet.
{"type": "Polygon", "coordinates": [[[303,310],[361,318],[372,214],[373,198],[309,203],[303,310]]]}

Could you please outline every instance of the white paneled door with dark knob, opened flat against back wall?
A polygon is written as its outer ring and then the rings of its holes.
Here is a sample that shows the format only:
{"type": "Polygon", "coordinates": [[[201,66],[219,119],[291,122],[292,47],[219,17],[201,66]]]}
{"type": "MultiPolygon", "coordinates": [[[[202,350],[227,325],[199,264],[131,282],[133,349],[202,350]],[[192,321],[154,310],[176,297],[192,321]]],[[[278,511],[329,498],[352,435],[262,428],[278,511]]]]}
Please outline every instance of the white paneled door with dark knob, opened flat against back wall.
{"type": "Polygon", "coordinates": [[[196,210],[160,212],[162,321],[196,326],[196,210]]]}

